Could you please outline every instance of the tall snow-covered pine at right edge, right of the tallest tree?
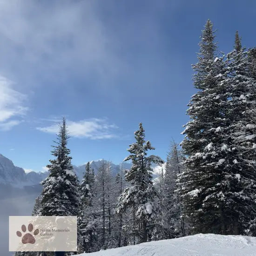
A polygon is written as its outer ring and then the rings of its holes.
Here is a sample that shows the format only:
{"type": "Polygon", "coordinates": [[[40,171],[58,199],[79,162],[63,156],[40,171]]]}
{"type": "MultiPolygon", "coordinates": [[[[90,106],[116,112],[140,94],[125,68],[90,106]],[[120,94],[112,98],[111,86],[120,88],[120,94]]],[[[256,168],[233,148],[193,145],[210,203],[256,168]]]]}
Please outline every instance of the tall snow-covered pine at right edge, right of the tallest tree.
{"type": "Polygon", "coordinates": [[[223,210],[227,233],[234,235],[244,234],[249,227],[251,208],[256,209],[256,138],[255,121],[251,119],[256,108],[256,80],[250,73],[250,61],[236,32],[234,50],[227,54],[226,76],[221,81],[229,91],[226,142],[222,145],[222,170],[226,174],[222,178],[223,210]]]}

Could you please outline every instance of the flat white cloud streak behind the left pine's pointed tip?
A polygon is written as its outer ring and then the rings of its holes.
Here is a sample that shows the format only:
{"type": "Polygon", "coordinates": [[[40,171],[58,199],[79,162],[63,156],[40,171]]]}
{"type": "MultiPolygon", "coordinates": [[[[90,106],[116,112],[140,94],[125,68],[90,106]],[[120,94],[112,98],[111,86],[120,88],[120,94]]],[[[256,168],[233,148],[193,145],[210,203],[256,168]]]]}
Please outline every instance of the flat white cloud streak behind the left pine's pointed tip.
{"type": "MultiPolygon", "coordinates": [[[[89,138],[91,140],[110,139],[117,137],[112,131],[118,128],[115,124],[109,124],[106,119],[88,119],[81,121],[67,120],[69,135],[79,138],[89,138]]],[[[56,134],[59,131],[58,124],[47,127],[38,127],[38,130],[46,133],[56,134]]]]}

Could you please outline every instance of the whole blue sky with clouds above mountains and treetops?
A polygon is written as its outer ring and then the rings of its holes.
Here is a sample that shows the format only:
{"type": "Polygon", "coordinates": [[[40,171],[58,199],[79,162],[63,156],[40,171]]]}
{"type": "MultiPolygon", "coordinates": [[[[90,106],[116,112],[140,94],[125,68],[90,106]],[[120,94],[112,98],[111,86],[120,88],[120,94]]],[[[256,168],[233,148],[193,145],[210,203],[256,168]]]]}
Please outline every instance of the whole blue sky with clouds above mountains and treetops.
{"type": "Polygon", "coordinates": [[[165,160],[208,19],[219,51],[256,46],[254,0],[0,0],[0,154],[45,170],[65,116],[74,165],[121,162],[139,122],[165,160]]]}

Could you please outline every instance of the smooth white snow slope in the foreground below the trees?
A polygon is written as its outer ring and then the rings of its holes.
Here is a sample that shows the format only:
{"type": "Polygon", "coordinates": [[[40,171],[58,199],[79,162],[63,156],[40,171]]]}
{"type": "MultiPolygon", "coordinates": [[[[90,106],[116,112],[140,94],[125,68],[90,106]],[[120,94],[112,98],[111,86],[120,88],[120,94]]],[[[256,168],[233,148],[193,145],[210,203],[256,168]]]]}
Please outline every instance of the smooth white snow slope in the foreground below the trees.
{"type": "Polygon", "coordinates": [[[256,237],[198,234],[80,256],[256,256],[256,237]]]}

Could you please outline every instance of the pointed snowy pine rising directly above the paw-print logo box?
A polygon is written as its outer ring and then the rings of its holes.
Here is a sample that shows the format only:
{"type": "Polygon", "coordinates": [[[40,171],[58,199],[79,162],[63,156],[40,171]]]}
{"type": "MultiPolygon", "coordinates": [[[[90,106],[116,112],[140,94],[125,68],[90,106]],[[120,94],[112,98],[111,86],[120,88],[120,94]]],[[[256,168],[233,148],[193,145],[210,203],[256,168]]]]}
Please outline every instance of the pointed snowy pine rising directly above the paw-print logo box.
{"type": "Polygon", "coordinates": [[[72,157],[67,148],[68,131],[66,120],[60,125],[57,145],[53,146],[55,159],[47,165],[48,177],[42,182],[41,216],[77,216],[79,206],[78,180],[71,165],[72,157]]]}

